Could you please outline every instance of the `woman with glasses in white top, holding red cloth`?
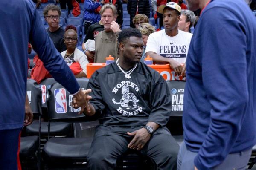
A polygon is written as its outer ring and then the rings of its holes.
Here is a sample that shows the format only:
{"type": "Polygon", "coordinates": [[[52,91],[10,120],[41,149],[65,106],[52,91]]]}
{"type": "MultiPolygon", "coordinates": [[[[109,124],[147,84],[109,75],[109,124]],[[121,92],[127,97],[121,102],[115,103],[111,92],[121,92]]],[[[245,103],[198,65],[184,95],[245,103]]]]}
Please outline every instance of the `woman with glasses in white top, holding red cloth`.
{"type": "Polygon", "coordinates": [[[67,50],[61,52],[61,55],[65,62],[70,67],[76,78],[86,77],[86,65],[88,64],[88,60],[84,52],[76,48],[78,41],[76,27],[72,25],[67,26],[63,40],[67,50]]]}

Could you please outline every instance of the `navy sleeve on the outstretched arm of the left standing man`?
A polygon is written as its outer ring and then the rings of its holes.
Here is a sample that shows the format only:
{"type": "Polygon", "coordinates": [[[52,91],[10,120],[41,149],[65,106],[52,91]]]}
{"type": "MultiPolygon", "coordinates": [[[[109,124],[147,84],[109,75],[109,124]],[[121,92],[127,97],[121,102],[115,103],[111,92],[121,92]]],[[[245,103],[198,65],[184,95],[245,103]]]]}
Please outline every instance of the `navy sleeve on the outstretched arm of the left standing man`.
{"type": "Polygon", "coordinates": [[[45,68],[52,77],[63,85],[71,94],[78,92],[79,84],[63,60],[61,54],[55,49],[52,40],[44,29],[40,16],[36,10],[32,18],[29,42],[43,61],[45,68]]]}

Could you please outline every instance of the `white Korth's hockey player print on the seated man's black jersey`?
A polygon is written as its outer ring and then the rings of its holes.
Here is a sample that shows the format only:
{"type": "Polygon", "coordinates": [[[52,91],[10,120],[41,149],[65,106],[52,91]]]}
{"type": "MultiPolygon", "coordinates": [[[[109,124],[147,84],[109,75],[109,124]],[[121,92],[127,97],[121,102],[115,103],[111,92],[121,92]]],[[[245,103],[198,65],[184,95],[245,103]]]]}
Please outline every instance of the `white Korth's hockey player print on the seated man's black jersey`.
{"type": "Polygon", "coordinates": [[[138,113],[142,112],[142,107],[137,105],[137,102],[139,102],[139,100],[134,93],[130,92],[130,87],[134,88],[136,92],[139,91],[138,86],[130,81],[122,81],[121,83],[117,84],[112,90],[112,92],[114,92],[118,96],[122,95],[122,97],[119,99],[112,99],[114,104],[120,105],[119,108],[116,110],[122,115],[137,115],[138,113]]]}

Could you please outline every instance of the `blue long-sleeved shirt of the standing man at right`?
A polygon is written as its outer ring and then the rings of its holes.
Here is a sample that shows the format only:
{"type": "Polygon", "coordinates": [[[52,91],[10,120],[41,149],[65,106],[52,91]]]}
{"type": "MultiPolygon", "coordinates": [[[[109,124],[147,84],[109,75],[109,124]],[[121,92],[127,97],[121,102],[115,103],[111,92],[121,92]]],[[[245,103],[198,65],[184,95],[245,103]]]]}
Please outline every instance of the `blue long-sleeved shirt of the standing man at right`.
{"type": "Polygon", "coordinates": [[[256,143],[256,19],[244,0],[212,0],[186,59],[183,127],[199,170],[256,143]]]}

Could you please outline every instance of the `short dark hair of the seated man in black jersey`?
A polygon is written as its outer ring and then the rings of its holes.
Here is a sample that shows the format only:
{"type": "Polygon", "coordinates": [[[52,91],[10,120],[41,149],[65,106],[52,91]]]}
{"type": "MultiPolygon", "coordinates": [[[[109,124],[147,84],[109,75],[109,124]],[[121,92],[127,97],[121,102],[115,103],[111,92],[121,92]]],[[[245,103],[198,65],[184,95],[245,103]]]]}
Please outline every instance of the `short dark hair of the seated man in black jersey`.
{"type": "Polygon", "coordinates": [[[124,43],[124,41],[130,37],[142,38],[142,35],[138,29],[134,29],[134,28],[123,29],[118,35],[118,43],[124,43]]]}

